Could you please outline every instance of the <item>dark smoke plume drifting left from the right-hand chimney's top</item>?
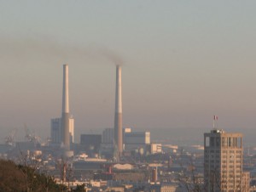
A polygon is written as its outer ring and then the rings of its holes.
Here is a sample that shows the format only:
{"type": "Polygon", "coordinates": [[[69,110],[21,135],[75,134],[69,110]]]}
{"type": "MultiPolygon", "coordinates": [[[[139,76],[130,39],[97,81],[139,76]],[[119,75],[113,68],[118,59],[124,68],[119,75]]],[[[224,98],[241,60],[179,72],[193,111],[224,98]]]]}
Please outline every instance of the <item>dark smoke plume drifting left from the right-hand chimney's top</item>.
{"type": "Polygon", "coordinates": [[[58,42],[51,37],[32,37],[15,39],[1,37],[0,56],[9,65],[67,64],[114,64],[123,65],[123,59],[110,48],[90,44],[83,46],[68,42],[58,42]],[[19,62],[17,62],[17,60],[19,62]]]}

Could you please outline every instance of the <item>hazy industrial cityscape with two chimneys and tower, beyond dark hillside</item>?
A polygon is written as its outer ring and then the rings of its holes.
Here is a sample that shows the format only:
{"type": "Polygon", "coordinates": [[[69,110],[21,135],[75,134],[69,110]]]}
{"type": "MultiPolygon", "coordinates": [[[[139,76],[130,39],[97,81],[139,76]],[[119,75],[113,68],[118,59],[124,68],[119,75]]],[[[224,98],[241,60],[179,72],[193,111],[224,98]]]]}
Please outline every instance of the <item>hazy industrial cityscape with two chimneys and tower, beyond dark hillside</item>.
{"type": "Polygon", "coordinates": [[[116,65],[113,127],[75,141],[68,65],[63,65],[61,117],[50,120],[49,140],[40,142],[26,127],[26,141],[16,142],[14,130],[0,145],[0,157],[36,165],[69,189],[84,184],[85,191],[255,191],[256,154],[244,153],[241,133],[213,126],[204,145],[177,146],[123,127],[121,69],[116,65]]]}

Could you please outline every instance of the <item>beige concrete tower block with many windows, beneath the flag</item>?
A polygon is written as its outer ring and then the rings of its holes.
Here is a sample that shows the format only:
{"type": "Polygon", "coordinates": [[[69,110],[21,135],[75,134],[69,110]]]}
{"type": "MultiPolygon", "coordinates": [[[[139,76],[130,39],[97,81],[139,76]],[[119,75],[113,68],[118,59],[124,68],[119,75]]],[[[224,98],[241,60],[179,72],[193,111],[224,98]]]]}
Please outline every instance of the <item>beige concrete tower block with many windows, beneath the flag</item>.
{"type": "Polygon", "coordinates": [[[206,191],[249,191],[242,171],[242,134],[213,129],[204,134],[206,191]]]}

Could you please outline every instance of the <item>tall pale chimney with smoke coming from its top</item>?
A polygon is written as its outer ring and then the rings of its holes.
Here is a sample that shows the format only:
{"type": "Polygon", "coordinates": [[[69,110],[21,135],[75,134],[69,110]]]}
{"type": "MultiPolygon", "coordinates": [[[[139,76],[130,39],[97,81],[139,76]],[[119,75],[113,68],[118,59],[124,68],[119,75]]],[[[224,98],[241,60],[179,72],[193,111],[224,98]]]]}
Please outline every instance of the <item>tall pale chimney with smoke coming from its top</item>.
{"type": "Polygon", "coordinates": [[[122,75],[121,66],[116,65],[115,113],[114,113],[114,147],[118,150],[118,157],[123,152],[122,130],[122,75]]]}

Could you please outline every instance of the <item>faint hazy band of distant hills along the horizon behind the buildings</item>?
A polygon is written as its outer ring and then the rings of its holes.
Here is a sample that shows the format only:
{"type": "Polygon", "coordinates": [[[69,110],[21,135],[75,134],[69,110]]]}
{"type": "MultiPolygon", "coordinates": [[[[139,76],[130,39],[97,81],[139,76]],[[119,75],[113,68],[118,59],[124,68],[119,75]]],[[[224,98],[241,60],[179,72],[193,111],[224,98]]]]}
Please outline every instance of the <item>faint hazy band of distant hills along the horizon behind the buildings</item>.
{"type": "MultiPolygon", "coordinates": [[[[105,127],[107,128],[107,127],[105,127]]],[[[80,132],[80,134],[102,134],[102,131],[105,128],[96,128],[96,129],[86,129],[84,132],[80,132]]],[[[111,127],[108,127],[111,128],[111,127]]],[[[209,128],[203,128],[203,127],[198,127],[198,128],[189,128],[189,127],[179,127],[179,128],[132,128],[133,132],[143,132],[143,131],[148,131],[150,132],[150,137],[152,142],[164,142],[168,144],[177,144],[177,145],[184,145],[184,146],[189,146],[189,145],[195,145],[195,144],[200,144],[203,145],[203,139],[204,139],[204,133],[209,133],[212,130],[212,127],[209,128]],[[193,132],[189,132],[189,134],[186,133],[188,129],[192,129],[193,132]],[[173,132],[174,131],[174,132],[173,132]]],[[[219,128],[221,129],[221,128],[219,128]]],[[[256,140],[254,139],[254,129],[253,127],[251,128],[223,128],[224,131],[227,133],[242,133],[243,134],[243,145],[244,147],[256,147],[256,140]]],[[[39,138],[43,138],[44,141],[46,141],[47,136],[42,137],[40,134],[37,132],[34,132],[32,129],[30,129],[31,133],[36,133],[39,138]]],[[[16,141],[25,141],[25,132],[22,129],[18,130],[18,137],[16,138],[16,141]],[[20,132],[19,132],[20,131],[20,132]]],[[[79,143],[80,137],[78,136],[78,133],[75,130],[75,143],[79,143]]],[[[8,135],[6,135],[8,136],[8,135]]],[[[4,143],[4,136],[2,141],[0,141],[0,144],[4,143]]],[[[49,135],[48,135],[49,137],[49,135]]]]}

